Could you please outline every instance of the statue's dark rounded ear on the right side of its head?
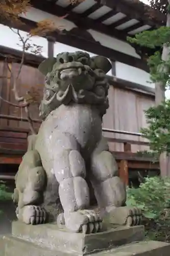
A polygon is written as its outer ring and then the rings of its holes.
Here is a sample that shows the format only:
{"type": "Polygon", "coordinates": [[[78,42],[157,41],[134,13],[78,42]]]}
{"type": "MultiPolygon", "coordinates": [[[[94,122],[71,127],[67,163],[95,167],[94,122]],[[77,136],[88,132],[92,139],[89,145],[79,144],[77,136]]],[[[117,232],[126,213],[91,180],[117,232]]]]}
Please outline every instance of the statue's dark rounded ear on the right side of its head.
{"type": "Polygon", "coordinates": [[[94,57],[91,57],[91,59],[93,59],[95,67],[103,70],[105,74],[107,74],[109,70],[111,70],[112,68],[110,61],[106,57],[94,56],[94,57]]]}

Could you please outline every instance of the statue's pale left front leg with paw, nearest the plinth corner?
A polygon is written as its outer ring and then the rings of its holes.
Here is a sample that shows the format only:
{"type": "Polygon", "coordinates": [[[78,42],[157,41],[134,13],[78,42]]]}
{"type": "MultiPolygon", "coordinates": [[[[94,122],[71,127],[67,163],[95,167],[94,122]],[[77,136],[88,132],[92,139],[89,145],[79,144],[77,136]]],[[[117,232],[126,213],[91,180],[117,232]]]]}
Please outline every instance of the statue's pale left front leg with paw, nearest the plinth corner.
{"type": "Polygon", "coordinates": [[[59,196],[64,210],[65,225],[75,232],[97,232],[100,218],[93,210],[89,210],[89,189],[85,181],[86,168],[79,145],[70,135],[60,134],[58,138],[60,140],[57,140],[54,155],[54,172],[59,182],[59,196]]]}

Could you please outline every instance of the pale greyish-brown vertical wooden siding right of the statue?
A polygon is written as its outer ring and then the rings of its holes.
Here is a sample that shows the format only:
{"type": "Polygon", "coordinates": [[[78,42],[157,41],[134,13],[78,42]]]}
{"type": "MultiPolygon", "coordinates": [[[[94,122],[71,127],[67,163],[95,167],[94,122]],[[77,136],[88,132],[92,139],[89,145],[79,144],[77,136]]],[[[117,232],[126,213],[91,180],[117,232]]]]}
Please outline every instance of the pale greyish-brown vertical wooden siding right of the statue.
{"type": "MultiPolygon", "coordinates": [[[[139,94],[135,91],[118,89],[113,86],[109,89],[109,109],[103,118],[103,127],[119,131],[127,131],[137,133],[141,127],[146,127],[146,119],[144,110],[154,105],[154,98],[139,94]]],[[[140,136],[124,135],[115,133],[104,133],[106,137],[147,141],[140,136]]],[[[124,151],[124,144],[109,142],[111,151],[124,151]]],[[[137,152],[148,149],[144,145],[132,145],[131,151],[137,152]]]]}

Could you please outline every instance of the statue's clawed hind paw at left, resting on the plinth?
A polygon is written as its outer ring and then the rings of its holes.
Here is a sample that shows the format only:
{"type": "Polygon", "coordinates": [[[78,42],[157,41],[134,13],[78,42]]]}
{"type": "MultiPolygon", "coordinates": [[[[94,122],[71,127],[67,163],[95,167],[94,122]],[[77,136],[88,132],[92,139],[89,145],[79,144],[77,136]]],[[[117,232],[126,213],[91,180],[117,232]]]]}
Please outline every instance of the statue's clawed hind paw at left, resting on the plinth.
{"type": "Polygon", "coordinates": [[[18,219],[26,224],[43,224],[47,219],[47,213],[40,206],[27,205],[18,211],[18,219]]]}

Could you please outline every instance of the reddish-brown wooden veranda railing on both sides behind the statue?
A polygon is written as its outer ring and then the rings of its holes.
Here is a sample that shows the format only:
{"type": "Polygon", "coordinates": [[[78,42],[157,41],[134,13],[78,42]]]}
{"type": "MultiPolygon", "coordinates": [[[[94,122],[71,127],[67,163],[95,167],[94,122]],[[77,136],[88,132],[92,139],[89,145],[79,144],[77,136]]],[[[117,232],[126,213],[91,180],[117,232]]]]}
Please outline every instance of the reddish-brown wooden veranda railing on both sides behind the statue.
{"type": "MultiPolygon", "coordinates": [[[[1,118],[1,115],[0,115],[1,118]]],[[[16,117],[8,116],[10,120],[16,120],[16,117]]],[[[17,118],[17,120],[20,120],[17,118]]],[[[21,119],[22,121],[27,121],[27,119],[21,119]]],[[[35,120],[39,122],[39,120],[35,120]]],[[[124,134],[131,136],[141,137],[140,133],[118,131],[103,128],[103,132],[111,134],[124,134]]],[[[0,128],[0,164],[20,164],[23,154],[27,151],[27,137],[29,130],[25,129],[13,129],[9,127],[0,128]]],[[[131,145],[144,145],[149,146],[149,142],[139,141],[139,140],[127,140],[119,138],[107,137],[108,142],[121,143],[124,145],[124,150],[122,152],[113,151],[118,167],[119,176],[125,182],[129,184],[129,169],[159,169],[159,162],[153,163],[153,159],[150,157],[139,156],[136,153],[132,153],[131,145]]],[[[5,178],[4,175],[0,174],[5,178]]]]}

